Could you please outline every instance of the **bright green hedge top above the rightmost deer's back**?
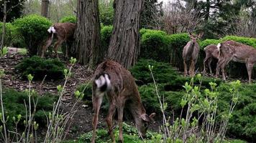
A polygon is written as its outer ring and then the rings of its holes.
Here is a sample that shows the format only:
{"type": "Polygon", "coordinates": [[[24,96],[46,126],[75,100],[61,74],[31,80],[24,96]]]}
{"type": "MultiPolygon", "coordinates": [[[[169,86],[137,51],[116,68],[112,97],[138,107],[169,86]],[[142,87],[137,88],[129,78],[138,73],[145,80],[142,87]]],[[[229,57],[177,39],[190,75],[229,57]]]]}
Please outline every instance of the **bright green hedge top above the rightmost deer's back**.
{"type": "Polygon", "coordinates": [[[244,36],[224,36],[221,41],[233,40],[242,44],[247,44],[256,48],[256,38],[248,38],[244,36]]]}

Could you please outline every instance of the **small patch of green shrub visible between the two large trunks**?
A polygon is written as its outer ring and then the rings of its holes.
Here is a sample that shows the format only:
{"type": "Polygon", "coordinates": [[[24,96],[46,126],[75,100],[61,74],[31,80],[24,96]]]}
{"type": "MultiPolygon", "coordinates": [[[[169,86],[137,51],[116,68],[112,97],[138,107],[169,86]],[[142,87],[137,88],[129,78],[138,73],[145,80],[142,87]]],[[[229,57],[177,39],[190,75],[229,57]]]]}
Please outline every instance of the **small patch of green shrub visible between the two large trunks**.
{"type": "Polygon", "coordinates": [[[112,31],[113,31],[113,26],[101,27],[101,46],[103,47],[103,49],[109,48],[109,42],[110,42],[112,31]]]}

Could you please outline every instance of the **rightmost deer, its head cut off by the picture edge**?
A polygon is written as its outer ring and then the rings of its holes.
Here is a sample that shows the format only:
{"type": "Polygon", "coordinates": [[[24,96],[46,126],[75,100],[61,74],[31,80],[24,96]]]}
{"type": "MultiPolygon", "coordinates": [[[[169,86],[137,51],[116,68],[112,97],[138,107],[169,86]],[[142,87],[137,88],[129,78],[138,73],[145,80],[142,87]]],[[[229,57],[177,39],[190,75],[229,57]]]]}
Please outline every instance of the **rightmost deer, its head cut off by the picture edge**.
{"type": "Polygon", "coordinates": [[[237,61],[245,63],[249,77],[249,83],[252,80],[252,68],[256,63],[256,49],[252,46],[241,44],[237,41],[224,41],[218,45],[219,48],[219,61],[216,67],[216,77],[219,76],[221,69],[223,79],[226,80],[224,68],[229,61],[237,61]]]}

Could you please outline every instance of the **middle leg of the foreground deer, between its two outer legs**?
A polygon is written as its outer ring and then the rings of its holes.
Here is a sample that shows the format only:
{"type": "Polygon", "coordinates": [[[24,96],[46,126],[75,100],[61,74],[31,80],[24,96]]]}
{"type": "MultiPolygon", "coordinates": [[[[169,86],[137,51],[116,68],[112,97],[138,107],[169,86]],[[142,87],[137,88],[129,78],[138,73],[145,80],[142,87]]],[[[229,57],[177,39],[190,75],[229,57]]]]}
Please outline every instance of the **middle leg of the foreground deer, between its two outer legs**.
{"type": "Polygon", "coordinates": [[[112,103],[109,104],[109,113],[106,116],[106,124],[108,125],[109,134],[111,136],[112,142],[115,142],[114,134],[112,132],[112,130],[113,130],[113,124],[112,124],[113,122],[112,121],[113,121],[113,115],[114,115],[115,111],[116,111],[116,106],[112,102],[112,103]]]}

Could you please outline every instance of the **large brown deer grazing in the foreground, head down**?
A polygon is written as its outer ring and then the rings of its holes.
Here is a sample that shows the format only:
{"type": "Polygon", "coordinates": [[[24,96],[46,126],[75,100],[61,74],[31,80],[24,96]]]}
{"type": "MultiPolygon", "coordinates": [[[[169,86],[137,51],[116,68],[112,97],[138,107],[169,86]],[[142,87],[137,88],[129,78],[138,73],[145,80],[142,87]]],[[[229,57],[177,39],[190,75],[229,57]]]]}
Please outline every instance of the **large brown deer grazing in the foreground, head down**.
{"type": "Polygon", "coordinates": [[[154,122],[153,117],[155,117],[155,113],[150,114],[150,116],[146,114],[137,85],[135,84],[132,74],[127,69],[124,69],[124,67],[116,61],[106,60],[102,62],[95,71],[92,89],[94,117],[92,122],[93,137],[91,142],[95,142],[99,109],[104,94],[106,94],[109,99],[109,113],[106,117],[106,124],[109,128],[112,142],[115,142],[112,132],[112,120],[116,109],[118,113],[119,141],[124,142],[122,135],[124,105],[127,106],[132,113],[140,137],[145,137],[149,124],[154,122]]]}

